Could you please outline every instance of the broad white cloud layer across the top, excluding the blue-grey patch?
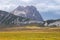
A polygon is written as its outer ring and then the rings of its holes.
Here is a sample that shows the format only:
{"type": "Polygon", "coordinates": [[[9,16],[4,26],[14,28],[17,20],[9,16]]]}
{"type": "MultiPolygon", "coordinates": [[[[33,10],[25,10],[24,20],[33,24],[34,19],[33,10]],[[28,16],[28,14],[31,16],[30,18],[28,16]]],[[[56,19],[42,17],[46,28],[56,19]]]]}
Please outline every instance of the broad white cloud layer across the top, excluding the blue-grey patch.
{"type": "Polygon", "coordinates": [[[60,0],[0,0],[0,10],[10,11],[18,5],[34,5],[40,12],[60,10],[60,0]]]}

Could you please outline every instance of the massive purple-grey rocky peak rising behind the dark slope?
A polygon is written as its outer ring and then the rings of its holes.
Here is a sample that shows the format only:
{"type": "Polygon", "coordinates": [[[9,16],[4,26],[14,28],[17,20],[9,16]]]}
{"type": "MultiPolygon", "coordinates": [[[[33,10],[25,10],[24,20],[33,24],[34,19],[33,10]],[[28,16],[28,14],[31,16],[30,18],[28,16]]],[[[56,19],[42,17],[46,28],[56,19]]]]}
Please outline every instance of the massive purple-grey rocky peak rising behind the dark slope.
{"type": "Polygon", "coordinates": [[[19,6],[15,10],[12,11],[15,15],[30,18],[37,21],[43,21],[40,13],[34,6],[19,6]]]}

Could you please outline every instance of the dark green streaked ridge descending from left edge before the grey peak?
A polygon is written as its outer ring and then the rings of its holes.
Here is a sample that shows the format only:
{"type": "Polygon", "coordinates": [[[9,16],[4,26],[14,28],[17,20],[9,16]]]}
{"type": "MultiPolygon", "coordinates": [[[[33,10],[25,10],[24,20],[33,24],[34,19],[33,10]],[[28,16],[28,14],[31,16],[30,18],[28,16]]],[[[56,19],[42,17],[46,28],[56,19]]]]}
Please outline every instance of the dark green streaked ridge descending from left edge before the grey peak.
{"type": "Polygon", "coordinates": [[[0,10],[0,26],[1,25],[18,25],[18,23],[24,22],[27,20],[30,20],[30,19],[21,17],[21,16],[16,16],[12,13],[0,10]]]}

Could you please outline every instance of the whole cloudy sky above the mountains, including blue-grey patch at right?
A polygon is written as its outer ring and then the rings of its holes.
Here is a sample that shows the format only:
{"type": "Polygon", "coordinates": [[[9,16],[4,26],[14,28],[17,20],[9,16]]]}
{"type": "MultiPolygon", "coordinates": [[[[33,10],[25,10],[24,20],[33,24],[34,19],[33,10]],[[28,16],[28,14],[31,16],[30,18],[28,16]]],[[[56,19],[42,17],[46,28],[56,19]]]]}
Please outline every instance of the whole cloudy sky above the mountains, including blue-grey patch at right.
{"type": "Polygon", "coordinates": [[[60,0],[0,0],[0,10],[7,12],[19,5],[35,6],[44,20],[60,19],[60,0]]]}

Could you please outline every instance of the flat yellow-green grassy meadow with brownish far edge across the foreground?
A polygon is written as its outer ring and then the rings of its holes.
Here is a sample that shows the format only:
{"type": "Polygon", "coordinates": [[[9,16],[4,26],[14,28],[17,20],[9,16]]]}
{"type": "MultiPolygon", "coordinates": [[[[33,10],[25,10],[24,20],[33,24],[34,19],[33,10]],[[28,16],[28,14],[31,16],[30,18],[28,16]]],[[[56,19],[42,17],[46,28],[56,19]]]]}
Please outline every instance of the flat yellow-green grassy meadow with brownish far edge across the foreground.
{"type": "Polygon", "coordinates": [[[60,29],[2,31],[0,40],[60,40],[60,29]]]}

